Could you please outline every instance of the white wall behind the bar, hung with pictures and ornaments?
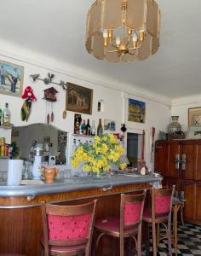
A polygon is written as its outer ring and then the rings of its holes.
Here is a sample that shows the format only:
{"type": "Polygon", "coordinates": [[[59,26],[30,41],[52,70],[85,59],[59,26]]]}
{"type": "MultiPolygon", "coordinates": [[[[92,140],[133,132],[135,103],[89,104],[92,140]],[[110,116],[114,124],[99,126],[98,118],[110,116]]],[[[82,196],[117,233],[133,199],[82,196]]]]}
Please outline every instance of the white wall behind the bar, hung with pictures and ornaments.
{"type": "MultiPolygon", "coordinates": [[[[55,74],[55,82],[60,82],[63,80],[65,82],[71,82],[73,84],[82,85],[94,90],[93,96],[93,111],[92,115],[84,115],[82,114],[83,119],[95,119],[95,124],[97,127],[98,119],[112,119],[116,121],[117,131],[120,130],[121,124],[125,123],[127,125],[128,131],[138,133],[142,133],[143,130],[146,131],[146,161],[149,166],[150,163],[150,129],[152,126],[156,128],[156,137],[159,130],[166,131],[167,125],[169,124],[170,110],[168,108],[168,103],[163,103],[161,98],[153,98],[147,94],[147,96],[139,96],[135,93],[135,87],[133,89],[133,93],[130,92],[128,94],[128,90],[125,86],[125,90],[118,90],[113,88],[108,88],[105,82],[101,84],[95,84],[94,82],[89,82],[87,79],[80,79],[83,77],[83,73],[79,76],[70,76],[68,73],[60,73],[55,70],[49,70],[48,64],[47,68],[44,66],[39,67],[37,64],[31,64],[31,62],[22,60],[12,60],[8,56],[1,56],[3,61],[13,62],[15,64],[19,64],[25,67],[25,78],[24,78],[24,89],[27,85],[31,85],[35,96],[37,96],[37,102],[32,103],[32,113],[27,123],[21,121],[20,119],[20,108],[23,104],[23,100],[20,97],[15,96],[5,96],[0,94],[0,108],[3,108],[5,102],[9,102],[9,108],[11,111],[11,123],[15,126],[20,125],[29,125],[32,123],[43,123],[46,119],[46,102],[43,100],[43,90],[49,88],[54,85],[55,89],[59,91],[57,94],[58,101],[54,103],[54,113],[55,113],[55,121],[52,125],[60,128],[63,131],[73,132],[73,124],[74,124],[74,113],[67,112],[67,118],[62,119],[62,113],[65,109],[65,101],[66,101],[66,91],[60,88],[59,85],[49,84],[45,85],[42,81],[37,81],[32,84],[29,75],[34,73],[40,73],[42,78],[47,76],[47,73],[55,74]],[[146,102],[146,124],[137,124],[128,122],[127,119],[127,108],[128,108],[128,98],[132,97],[137,100],[146,102]],[[100,100],[104,100],[104,112],[97,112],[97,103],[100,100]]],[[[45,59],[43,60],[45,63],[45,59]]],[[[54,66],[54,65],[53,65],[54,66]]],[[[124,85],[123,85],[124,86],[124,85]]],[[[131,91],[129,89],[129,91],[131,91]]],[[[0,134],[1,137],[1,134],[0,134]]]]}

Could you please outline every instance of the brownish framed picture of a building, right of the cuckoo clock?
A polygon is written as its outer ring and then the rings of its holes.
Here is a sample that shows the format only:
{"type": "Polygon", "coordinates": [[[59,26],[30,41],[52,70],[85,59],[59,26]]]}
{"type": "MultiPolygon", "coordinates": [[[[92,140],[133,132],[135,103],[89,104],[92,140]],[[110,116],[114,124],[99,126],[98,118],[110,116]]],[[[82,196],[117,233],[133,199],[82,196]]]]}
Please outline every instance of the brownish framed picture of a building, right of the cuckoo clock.
{"type": "Polygon", "coordinates": [[[68,86],[66,90],[66,110],[91,114],[93,90],[71,83],[68,83],[68,86]]]}

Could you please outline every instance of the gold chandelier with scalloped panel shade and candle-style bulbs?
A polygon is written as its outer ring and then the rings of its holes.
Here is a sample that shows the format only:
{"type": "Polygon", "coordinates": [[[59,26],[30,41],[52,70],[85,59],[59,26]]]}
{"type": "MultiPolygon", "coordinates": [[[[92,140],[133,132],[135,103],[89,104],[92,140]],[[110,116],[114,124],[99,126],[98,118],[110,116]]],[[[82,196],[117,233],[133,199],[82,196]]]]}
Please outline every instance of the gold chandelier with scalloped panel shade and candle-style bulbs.
{"type": "Polygon", "coordinates": [[[145,60],[157,52],[159,32],[154,0],[96,0],[87,16],[85,45],[99,60],[145,60]]]}

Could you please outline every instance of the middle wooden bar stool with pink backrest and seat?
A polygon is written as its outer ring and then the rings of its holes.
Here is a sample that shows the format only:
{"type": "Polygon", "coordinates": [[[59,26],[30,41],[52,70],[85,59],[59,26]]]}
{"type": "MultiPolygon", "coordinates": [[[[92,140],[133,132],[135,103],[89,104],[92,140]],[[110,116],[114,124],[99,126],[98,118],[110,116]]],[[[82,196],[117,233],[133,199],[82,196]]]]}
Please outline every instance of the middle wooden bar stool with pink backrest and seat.
{"type": "Polygon", "coordinates": [[[124,253],[124,238],[133,238],[137,255],[141,255],[141,220],[146,190],[139,195],[121,195],[120,218],[111,217],[95,221],[95,230],[100,232],[95,247],[102,236],[114,236],[120,239],[120,256],[124,253]]]}

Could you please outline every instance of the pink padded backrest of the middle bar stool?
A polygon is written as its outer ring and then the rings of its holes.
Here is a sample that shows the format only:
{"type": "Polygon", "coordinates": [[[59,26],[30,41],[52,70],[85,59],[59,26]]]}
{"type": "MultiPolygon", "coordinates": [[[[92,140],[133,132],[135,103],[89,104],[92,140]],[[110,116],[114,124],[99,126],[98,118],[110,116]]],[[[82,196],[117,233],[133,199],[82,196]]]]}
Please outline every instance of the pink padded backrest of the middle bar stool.
{"type": "Polygon", "coordinates": [[[124,225],[137,224],[141,220],[142,202],[127,202],[124,206],[124,225]]]}

